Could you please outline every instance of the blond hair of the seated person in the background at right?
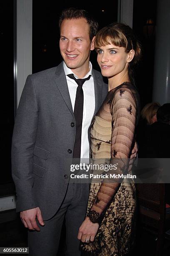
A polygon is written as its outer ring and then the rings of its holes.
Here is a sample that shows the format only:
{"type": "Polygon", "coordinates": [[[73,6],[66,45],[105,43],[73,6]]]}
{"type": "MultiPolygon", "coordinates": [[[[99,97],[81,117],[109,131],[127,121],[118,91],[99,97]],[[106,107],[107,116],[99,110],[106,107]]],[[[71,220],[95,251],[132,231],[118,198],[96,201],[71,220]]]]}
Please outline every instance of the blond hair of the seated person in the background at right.
{"type": "Polygon", "coordinates": [[[145,105],[145,107],[141,110],[141,117],[147,121],[149,125],[152,124],[152,118],[157,113],[160,108],[160,103],[158,102],[150,102],[145,105]]]}

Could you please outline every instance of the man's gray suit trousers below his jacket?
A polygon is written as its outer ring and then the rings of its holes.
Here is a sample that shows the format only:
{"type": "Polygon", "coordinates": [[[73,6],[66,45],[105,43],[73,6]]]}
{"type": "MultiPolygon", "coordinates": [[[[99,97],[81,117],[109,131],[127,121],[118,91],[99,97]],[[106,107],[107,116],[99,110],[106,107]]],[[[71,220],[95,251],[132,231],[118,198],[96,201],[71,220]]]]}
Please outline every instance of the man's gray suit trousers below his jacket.
{"type": "MultiPolygon", "coordinates": [[[[82,224],[87,209],[89,184],[68,184],[65,198],[57,213],[45,220],[40,232],[28,231],[29,255],[56,256],[60,241],[62,224],[66,224],[66,255],[79,256],[80,241],[78,230],[82,224]]],[[[42,216],[43,217],[43,216],[42,216]]]]}

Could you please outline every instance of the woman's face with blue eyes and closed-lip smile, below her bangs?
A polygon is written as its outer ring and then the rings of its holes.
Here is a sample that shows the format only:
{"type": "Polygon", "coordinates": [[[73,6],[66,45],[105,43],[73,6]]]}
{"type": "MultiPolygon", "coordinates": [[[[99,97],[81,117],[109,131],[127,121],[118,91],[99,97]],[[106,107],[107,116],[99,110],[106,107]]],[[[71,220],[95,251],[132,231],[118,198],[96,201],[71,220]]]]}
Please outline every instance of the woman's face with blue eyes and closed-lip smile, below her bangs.
{"type": "Polygon", "coordinates": [[[134,50],[125,52],[124,47],[107,44],[97,49],[97,62],[104,77],[113,77],[128,72],[128,62],[133,59],[134,50]]]}

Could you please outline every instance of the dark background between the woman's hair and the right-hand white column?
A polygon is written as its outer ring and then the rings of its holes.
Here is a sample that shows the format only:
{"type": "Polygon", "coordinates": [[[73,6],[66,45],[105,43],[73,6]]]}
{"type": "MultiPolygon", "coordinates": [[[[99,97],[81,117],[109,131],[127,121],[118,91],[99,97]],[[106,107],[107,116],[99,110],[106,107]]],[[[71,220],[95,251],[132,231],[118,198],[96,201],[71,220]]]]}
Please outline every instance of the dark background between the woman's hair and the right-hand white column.
{"type": "Polygon", "coordinates": [[[135,76],[143,107],[152,101],[157,0],[134,0],[133,3],[133,31],[143,49],[135,76]],[[152,20],[153,24],[147,25],[147,20],[152,20]]]}

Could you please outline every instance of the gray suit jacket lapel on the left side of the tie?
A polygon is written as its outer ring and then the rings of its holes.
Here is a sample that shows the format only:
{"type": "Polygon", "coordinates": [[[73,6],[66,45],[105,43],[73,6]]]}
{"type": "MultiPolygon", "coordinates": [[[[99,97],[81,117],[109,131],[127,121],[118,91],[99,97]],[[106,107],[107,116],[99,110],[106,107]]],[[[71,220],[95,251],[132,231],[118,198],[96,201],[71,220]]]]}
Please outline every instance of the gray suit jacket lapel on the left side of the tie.
{"type": "Polygon", "coordinates": [[[74,113],[72,110],[72,104],[71,104],[71,100],[70,100],[70,94],[69,94],[69,90],[68,90],[68,85],[67,85],[67,80],[66,80],[65,72],[64,72],[64,68],[63,68],[63,62],[60,63],[56,68],[55,83],[58,87],[58,90],[61,93],[63,100],[65,101],[65,104],[67,105],[68,109],[74,116],[74,113]]]}

